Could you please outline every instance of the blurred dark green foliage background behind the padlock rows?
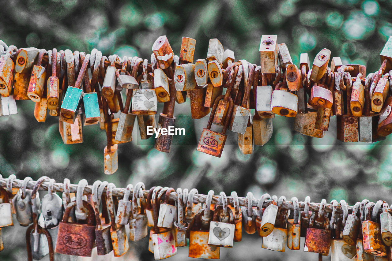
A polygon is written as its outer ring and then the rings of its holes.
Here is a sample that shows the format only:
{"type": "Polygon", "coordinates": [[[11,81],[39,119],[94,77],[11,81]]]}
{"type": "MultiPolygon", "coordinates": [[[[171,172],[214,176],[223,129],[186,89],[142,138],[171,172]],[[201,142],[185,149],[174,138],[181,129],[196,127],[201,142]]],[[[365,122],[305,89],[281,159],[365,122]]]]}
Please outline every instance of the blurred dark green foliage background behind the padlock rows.
{"type": "MultiPolygon", "coordinates": [[[[195,60],[205,58],[210,38],[218,38],[225,49],[234,51],[236,60],[260,64],[261,35],[278,34],[278,43],[287,44],[297,65],[300,53],[309,53],[312,60],[328,48],[343,64],[361,63],[370,73],[378,70],[379,53],[392,35],[392,2],[387,0],[10,0],[1,1],[1,6],[0,38],[9,45],[85,52],[97,48],[107,56],[149,59],[155,39],[165,34],[176,54],[182,36],[196,39],[195,60]]],[[[83,128],[82,144],[64,145],[57,118],[48,115],[45,123],[38,123],[32,101],[16,104],[18,114],[0,117],[0,173],[4,177],[47,175],[58,182],[69,178],[72,183],[85,178],[89,184],[101,179],[117,187],[143,181],[148,188],[196,187],[203,194],[210,189],[227,195],[236,190],[239,196],[252,191],[256,198],[268,192],[301,201],[309,195],[314,202],[345,199],[353,205],[368,198],[392,203],[391,138],[373,144],[344,144],[336,140],[335,117],[325,137],[317,139],[293,132],[292,118],[276,116],[274,134],[265,146],[243,155],[237,135],[227,133],[222,157],[215,158],[196,151],[207,117],[192,120],[187,100],[176,104],[174,113],[176,127],[185,127],[187,135],[174,136],[169,154],[154,150],[154,138],[140,140],[135,127],[134,141],[119,145],[118,171],[106,176],[106,136],[98,125],[83,128]]],[[[25,228],[16,223],[2,231],[5,249],[0,260],[26,259],[25,228]]],[[[126,258],[154,259],[147,241],[130,243],[126,258]]],[[[172,260],[186,258],[187,248],[183,248],[172,260]]],[[[315,260],[317,255],[265,250],[258,236],[244,232],[243,241],[232,250],[221,250],[221,259],[244,258],[315,260]]]]}

